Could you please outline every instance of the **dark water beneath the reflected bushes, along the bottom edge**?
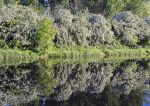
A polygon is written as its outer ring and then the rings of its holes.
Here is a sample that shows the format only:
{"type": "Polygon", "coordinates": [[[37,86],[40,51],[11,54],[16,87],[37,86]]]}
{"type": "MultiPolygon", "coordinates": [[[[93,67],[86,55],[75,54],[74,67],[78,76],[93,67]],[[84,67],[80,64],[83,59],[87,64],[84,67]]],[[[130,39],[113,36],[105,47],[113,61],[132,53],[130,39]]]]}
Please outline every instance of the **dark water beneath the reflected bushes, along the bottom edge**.
{"type": "Polygon", "coordinates": [[[49,100],[47,104],[51,104],[51,106],[141,106],[142,92],[136,89],[126,95],[116,93],[110,86],[106,86],[104,91],[99,94],[78,92],[67,101],[49,100]]]}

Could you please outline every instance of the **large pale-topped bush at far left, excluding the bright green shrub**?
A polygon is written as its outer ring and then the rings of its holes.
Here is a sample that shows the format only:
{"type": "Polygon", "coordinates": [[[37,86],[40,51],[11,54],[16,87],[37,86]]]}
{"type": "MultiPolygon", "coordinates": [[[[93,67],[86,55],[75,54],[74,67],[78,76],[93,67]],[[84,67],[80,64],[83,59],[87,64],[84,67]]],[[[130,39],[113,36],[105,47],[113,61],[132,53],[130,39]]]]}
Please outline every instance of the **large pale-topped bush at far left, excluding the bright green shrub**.
{"type": "Polygon", "coordinates": [[[4,6],[0,15],[0,48],[36,48],[35,33],[43,17],[23,6],[4,6]]]}

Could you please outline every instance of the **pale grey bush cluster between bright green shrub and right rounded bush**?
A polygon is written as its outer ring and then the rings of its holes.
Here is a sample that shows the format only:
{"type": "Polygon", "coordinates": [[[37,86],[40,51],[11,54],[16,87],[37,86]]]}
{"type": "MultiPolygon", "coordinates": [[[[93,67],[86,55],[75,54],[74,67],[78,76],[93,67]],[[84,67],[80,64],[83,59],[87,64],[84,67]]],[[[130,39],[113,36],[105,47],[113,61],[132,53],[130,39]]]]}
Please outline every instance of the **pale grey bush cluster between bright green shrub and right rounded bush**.
{"type": "Polygon", "coordinates": [[[67,9],[60,9],[55,19],[57,45],[101,46],[111,45],[114,41],[111,25],[100,14],[73,15],[67,9]]]}

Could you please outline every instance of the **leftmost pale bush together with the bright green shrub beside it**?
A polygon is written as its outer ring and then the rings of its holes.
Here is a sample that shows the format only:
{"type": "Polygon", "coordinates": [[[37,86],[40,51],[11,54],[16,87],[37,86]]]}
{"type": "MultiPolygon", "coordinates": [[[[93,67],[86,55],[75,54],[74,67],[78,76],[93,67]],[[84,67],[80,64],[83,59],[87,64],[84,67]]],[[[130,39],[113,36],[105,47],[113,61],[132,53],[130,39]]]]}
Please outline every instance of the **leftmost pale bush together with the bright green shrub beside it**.
{"type": "Polygon", "coordinates": [[[43,20],[43,17],[31,8],[19,5],[6,6],[2,14],[4,15],[0,15],[0,48],[45,50],[54,45],[55,29],[50,19],[43,20]]]}

